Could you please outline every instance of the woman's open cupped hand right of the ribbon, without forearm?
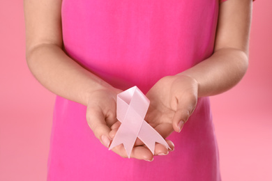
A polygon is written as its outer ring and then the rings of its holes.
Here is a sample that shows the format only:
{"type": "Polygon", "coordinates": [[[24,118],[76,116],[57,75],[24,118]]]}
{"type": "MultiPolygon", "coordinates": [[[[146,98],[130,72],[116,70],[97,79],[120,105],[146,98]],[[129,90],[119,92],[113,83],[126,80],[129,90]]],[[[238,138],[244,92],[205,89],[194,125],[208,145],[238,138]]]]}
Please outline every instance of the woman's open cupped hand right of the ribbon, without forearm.
{"type": "Polygon", "coordinates": [[[146,121],[163,138],[174,131],[181,132],[197,105],[198,84],[195,79],[177,74],[160,79],[146,94],[150,107],[146,121]]]}

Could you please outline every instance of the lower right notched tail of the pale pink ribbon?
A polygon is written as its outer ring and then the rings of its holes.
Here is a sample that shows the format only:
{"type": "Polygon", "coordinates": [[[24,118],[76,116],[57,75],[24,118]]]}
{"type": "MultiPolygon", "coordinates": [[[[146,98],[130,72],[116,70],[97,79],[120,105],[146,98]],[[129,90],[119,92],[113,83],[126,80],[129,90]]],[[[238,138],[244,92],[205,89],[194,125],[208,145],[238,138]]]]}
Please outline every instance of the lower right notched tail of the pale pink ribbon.
{"type": "Polygon", "coordinates": [[[163,136],[160,136],[160,134],[153,128],[149,123],[146,123],[144,120],[142,123],[142,127],[139,130],[138,137],[144,144],[151,150],[152,154],[154,155],[155,152],[155,144],[160,143],[162,145],[165,145],[166,148],[171,149],[165,139],[163,139],[163,136]]]}

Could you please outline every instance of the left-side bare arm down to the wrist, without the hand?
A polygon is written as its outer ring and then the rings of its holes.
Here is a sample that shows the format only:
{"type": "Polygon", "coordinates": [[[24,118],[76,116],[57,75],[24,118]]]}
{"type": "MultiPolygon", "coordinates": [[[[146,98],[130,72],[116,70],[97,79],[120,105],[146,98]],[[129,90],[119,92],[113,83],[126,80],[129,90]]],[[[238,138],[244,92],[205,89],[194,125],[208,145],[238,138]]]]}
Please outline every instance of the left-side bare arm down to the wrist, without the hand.
{"type": "Polygon", "coordinates": [[[45,88],[86,106],[91,92],[110,87],[63,52],[60,0],[26,0],[24,14],[27,63],[45,88]]]}

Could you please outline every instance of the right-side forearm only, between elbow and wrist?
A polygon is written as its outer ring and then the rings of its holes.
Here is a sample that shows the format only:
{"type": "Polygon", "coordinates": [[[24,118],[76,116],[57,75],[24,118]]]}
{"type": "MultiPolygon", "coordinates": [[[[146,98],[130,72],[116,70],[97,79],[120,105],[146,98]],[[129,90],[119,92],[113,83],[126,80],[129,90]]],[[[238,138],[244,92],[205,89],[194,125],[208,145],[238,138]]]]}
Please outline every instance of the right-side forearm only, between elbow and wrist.
{"type": "Polygon", "coordinates": [[[198,97],[204,97],[223,93],[235,86],[247,68],[248,56],[245,52],[224,48],[181,74],[196,79],[198,97]]]}

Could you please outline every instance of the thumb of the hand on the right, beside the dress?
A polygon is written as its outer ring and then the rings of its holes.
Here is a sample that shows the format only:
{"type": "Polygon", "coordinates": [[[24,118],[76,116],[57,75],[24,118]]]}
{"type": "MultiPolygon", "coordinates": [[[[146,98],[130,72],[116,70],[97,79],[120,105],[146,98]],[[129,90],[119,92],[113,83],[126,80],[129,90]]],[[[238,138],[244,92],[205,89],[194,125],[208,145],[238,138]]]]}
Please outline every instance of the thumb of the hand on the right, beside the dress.
{"type": "Polygon", "coordinates": [[[173,129],[175,132],[181,132],[183,125],[187,122],[188,118],[192,115],[197,105],[197,99],[188,102],[180,102],[177,106],[176,113],[173,117],[173,129]]]}

